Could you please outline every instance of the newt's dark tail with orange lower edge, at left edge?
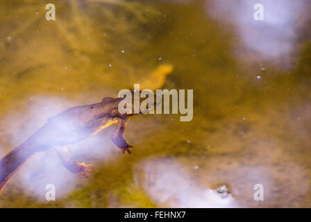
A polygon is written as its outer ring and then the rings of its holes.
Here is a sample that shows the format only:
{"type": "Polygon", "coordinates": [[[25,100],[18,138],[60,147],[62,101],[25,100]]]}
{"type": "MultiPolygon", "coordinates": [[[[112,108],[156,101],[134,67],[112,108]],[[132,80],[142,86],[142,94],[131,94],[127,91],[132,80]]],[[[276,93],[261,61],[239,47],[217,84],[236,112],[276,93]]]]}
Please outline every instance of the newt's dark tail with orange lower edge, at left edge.
{"type": "Polygon", "coordinates": [[[30,142],[24,142],[0,160],[0,194],[10,177],[37,153],[37,149],[29,145],[31,145],[30,142]]]}

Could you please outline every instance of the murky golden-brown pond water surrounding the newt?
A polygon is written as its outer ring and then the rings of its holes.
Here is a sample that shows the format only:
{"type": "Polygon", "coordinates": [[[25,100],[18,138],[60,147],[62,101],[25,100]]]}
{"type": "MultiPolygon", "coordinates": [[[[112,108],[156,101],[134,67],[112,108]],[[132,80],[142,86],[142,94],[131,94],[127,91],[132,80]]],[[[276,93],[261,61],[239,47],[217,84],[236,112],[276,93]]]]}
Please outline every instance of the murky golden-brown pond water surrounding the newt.
{"type": "Polygon", "coordinates": [[[230,2],[53,1],[47,21],[49,1],[0,1],[1,157],[47,118],[134,83],[194,90],[192,121],[133,117],[132,155],[110,141],[115,126],[68,146],[94,165],[90,180],[54,149],[40,153],[0,206],[311,207],[310,3],[260,1],[256,21],[257,1],[230,2]],[[254,200],[258,184],[264,201],[254,200]]]}

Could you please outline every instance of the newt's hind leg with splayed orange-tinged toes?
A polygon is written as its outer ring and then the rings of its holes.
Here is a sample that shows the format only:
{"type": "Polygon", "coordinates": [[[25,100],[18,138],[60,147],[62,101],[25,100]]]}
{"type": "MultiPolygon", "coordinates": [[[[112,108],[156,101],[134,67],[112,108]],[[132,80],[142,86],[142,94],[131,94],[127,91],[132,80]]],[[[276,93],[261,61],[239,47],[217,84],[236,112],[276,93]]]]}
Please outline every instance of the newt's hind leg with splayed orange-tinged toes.
{"type": "Polygon", "coordinates": [[[79,163],[76,160],[72,159],[72,156],[68,152],[66,147],[57,147],[56,150],[60,155],[60,159],[62,160],[62,165],[68,169],[72,173],[78,173],[78,176],[85,178],[89,178],[87,173],[95,172],[92,169],[92,165],[87,165],[84,162],[79,163]]]}

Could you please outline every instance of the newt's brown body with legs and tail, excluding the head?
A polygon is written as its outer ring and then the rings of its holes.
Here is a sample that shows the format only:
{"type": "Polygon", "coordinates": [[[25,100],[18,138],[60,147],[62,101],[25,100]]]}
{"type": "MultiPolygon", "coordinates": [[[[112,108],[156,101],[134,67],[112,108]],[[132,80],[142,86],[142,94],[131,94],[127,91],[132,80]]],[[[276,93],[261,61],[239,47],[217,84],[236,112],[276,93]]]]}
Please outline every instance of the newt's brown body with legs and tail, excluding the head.
{"type": "Polygon", "coordinates": [[[74,161],[65,146],[80,142],[114,123],[117,123],[117,128],[112,133],[112,142],[123,153],[131,153],[128,148],[132,146],[123,138],[123,133],[133,114],[119,113],[118,105],[121,100],[123,98],[106,97],[101,103],[76,106],[50,117],[42,128],[0,160],[0,193],[24,162],[36,153],[53,147],[56,147],[64,167],[73,173],[87,176],[86,172],[93,171],[90,169],[92,166],[74,161]]]}

